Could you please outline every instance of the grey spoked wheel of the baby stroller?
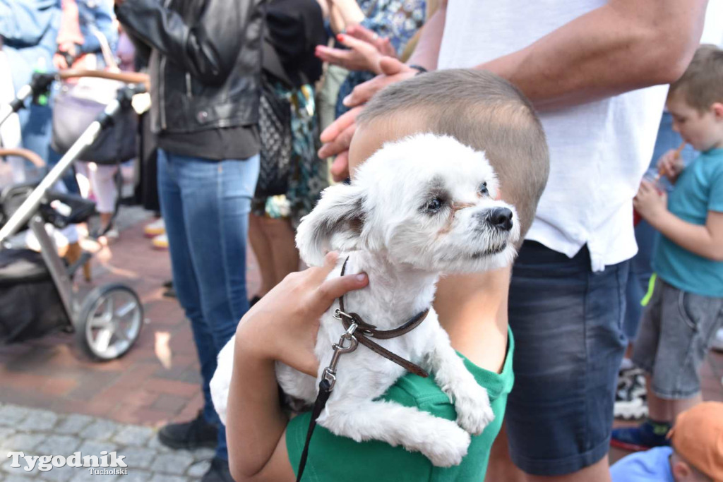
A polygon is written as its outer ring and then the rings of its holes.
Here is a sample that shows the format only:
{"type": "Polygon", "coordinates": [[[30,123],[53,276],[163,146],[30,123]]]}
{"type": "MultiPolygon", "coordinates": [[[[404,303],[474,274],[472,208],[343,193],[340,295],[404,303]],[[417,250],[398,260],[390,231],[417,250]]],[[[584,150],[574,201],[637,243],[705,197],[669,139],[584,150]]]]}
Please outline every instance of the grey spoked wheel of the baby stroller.
{"type": "Polygon", "coordinates": [[[112,360],[133,346],[142,324],[143,306],[137,294],[113,283],[87,294],[77,317],[76,337],[91,358],[112,360]]]}

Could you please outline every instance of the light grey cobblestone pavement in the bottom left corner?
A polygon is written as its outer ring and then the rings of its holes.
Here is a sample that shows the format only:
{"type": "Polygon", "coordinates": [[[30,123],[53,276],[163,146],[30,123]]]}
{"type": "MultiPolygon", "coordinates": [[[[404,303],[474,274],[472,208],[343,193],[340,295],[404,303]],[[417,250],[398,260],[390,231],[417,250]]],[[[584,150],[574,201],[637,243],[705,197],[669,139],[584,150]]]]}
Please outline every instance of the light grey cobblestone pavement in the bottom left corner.
{"type": "Polygon", "coordinates": [[[0,403],[0,481],[190,482],[200,480],[213,458],[212,449],[172,450],[158,442],[156,429],[117,423],[87,415],[64,415],[50,410],[0,403]],[[47,471],[12,468],[8,452],[24,455],[97,455],[116,451],[128,465],[124,475],[95,475],[87,468],[67,465],[47,471]]]}

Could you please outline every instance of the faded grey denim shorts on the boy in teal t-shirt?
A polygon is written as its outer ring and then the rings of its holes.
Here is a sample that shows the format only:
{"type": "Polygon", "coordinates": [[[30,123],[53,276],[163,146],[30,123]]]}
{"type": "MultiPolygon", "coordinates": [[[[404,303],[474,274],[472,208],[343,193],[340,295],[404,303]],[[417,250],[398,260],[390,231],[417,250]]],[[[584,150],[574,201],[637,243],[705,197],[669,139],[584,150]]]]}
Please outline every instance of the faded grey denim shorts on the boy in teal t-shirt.
{"type": "Polygon", "coordinates": [[[653,375],[661,398],[690,398],[701,391],[698,369],[723,323],[723,298],[679,290],[658,277],[643,312],[633,362],[653,375]]]}

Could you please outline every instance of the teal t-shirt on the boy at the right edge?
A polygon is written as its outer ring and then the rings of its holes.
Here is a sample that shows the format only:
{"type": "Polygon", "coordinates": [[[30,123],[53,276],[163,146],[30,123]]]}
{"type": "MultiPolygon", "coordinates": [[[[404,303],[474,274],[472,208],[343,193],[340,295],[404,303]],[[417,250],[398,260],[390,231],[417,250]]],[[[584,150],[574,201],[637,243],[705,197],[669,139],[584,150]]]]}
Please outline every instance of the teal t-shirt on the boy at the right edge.
{"type": "MultiPolygon", "coordinates": [[[[703,152],[680,173],[668,210],[688,223],[705,225],[709,211],[723,212],[723,149],[703,152]]],[[[723,262],[691,253],[661,236],[653,267],[679,290],[723,297],[723,262]]]]}

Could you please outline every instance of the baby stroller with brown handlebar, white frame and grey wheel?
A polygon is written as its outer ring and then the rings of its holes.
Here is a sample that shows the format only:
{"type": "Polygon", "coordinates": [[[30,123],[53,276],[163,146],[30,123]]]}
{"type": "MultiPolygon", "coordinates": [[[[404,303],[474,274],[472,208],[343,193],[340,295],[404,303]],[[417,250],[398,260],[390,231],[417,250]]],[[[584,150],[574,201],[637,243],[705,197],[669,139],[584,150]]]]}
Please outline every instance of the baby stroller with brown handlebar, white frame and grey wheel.
{"type": "MultiPolygon", "coordinates": [[[[20,110],[26,98],[45,92],[54,80],[86,76],[127,85],[118,89],[116,99],[87,126],[39,184],[8,186],[0,193],[0,343],[29,340],[61,329],[74,332],[80,347],[91,358],[111,360],[127,353],[140,336],[140,299],[127,285],[111,283],[93,289],[80,300],[72,277],[91,254],[84,253],[77,262],[66,266],[45,225],[64,228],[85,222],[95,213],[92,201],[52,188],[74,160],[93,148],[101,134],[129,112],[133,95],[145,92],[147,76],[96,71],[35,74],[33,82],[23,87],[9,108],[0,113],[0,124],[20,110]],[[38,239],[40,253],[9,246],[9,238],[26,227],[38,239]]],[[[36,165],[42,163],[27,150],[0,150],[2,155],[20,155],[36,165]]]]}

